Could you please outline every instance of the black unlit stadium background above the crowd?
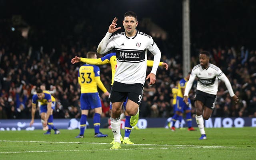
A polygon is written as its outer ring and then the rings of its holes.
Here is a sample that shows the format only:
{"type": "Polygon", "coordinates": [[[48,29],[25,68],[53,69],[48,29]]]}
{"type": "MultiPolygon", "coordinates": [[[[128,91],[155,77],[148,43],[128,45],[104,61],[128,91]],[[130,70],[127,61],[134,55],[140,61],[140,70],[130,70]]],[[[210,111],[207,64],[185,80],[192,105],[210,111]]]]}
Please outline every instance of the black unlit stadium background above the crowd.
{"type": "MultiPolygon", "coordinates": [[[[0,0],[0,29],[11,32],[12,26],[29,25],[28,43],[48,46],[45,49],[49,50],[76,39],[97,45],[112,19],[116,16],[120,26],[124,13],[130,10],[137,13],[139,23],[151,18],[168,33],[170,53],[182,52],[182,0],[0,0]],[[25,23],[13,25],[13,15],[20,15],[25,23]],[[81,24],[82,29],[74,33],[81,24]]],[[[224,44],[255,48],[255,26],[254,0],[190,0],[192,48],[224,44]]]]}

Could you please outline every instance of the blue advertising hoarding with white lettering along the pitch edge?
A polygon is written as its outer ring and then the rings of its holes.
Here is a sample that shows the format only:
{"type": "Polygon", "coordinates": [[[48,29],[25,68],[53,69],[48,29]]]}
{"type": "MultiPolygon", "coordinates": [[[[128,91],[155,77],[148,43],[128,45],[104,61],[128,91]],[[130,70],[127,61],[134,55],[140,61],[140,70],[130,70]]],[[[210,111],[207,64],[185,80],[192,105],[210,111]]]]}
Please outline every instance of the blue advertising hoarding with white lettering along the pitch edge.
{"type": "MultiPolygon", "coordinates": [[[[166,127],[171,118],[145,118],[139,119],[138,128],[146,129],[152,127],[166,127]]],[[[54,119],[54,125],[58,129],[79,129],[80,119],[54,119]]],[[[121,121],[121,128],[124,129],[125,119],[121,121]]],[[[101,128],[111,128],[110,119],[101,119],[101,128]]],[[[30,119],[0,119],[0,131],[19,131],[27,130],[32,131],[34,129],[42,129],[42,123],[40,119],[35,119],[34,125],[29,126],[30,119]]],[[[88,119],[87,128],[93,128],[93,119],[88,119]]],[[[178,128],[178,122],[175,124],[178,128]]],[[[249,117],[214,117],[207,121],[204,121],[206,128],[220,128],[220,127],[256,127],[256,118],[249,117]]],[[[186,122],[182,120],[181,127],[187,127],[186,122]]],[[[197,127],[195,119],[192,120],[192,127],[197,127]]]]}

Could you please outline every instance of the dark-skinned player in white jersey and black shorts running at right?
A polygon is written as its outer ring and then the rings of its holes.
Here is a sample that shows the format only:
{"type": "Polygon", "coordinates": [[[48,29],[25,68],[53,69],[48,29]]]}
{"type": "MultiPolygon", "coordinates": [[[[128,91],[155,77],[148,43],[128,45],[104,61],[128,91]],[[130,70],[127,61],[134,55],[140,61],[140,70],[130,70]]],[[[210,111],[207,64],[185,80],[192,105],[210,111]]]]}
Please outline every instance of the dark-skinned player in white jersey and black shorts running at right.
{"type": "Polygon", "coordinates": [[[232,99],[237,103],[238,98],[232,90],[232,86],[226,77],[226,75],[220,70],[219,67],[211,64],[210,53],[208,51],[202,51],[199,53],[200,64],[194,66],[192,69],[190,78],[187,82],[184,99],[185,103],[188,103],[188,92],[192,87],[195,78],[198,78],[196,95],[195,95],[195,108],[196,108],[196,123],[200,129],[200,140],[206,139],[204,131],[204,119],[207,120],[212,115],[214,109],[214,103],[216,101],[216,94],[218,91],[218,79],[225,82],[228,92],[232,99]]]}

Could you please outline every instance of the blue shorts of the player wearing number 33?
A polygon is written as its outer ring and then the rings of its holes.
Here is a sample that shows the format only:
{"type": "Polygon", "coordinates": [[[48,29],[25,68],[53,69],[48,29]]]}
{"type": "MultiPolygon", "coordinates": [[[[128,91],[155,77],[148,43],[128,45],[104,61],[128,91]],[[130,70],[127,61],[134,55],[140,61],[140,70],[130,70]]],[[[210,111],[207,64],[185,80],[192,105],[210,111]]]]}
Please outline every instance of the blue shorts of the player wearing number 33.
{"type": "Polygon", "coordinates": [[[101,107],[99,93],[83,93],[80,96],[81,110],[101,107]]]}

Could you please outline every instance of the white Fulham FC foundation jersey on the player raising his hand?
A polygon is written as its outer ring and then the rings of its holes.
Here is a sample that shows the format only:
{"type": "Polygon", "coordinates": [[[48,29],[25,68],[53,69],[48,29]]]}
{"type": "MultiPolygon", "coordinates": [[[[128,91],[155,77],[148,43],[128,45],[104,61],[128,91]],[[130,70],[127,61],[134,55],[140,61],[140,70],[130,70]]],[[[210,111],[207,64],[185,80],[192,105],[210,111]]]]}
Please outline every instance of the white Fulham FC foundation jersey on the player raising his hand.
{"type": "Polygon", "coordinates": [[[144,84],[147,53],[157,47],[152,37],[138,30],[132,38],[122,32],[110,37],[108,45],[116,52],[117,68],[114,81],[126,84],[144,84]]]}

